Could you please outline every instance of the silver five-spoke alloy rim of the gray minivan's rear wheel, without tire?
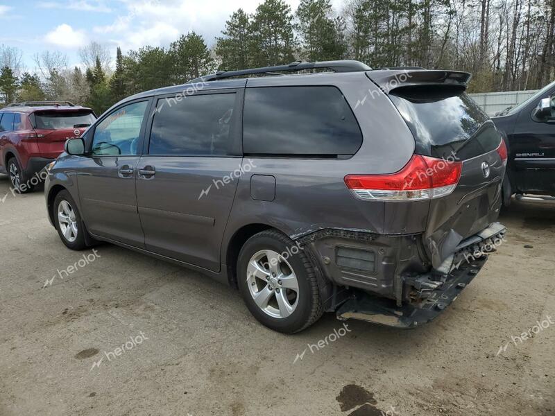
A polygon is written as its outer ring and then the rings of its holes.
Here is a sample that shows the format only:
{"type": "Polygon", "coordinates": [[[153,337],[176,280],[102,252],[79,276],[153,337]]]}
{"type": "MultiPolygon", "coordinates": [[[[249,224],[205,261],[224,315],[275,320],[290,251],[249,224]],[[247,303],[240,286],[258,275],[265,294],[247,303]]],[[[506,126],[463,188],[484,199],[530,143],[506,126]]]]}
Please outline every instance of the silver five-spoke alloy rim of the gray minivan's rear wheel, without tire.
{"type": "Polygon", "coordinates": [[[253,254],[247,266],[247,286],[255,304],[272,318],[287,318],[297,307],[299,284],[293,267],[273,250],[253,254]]]}

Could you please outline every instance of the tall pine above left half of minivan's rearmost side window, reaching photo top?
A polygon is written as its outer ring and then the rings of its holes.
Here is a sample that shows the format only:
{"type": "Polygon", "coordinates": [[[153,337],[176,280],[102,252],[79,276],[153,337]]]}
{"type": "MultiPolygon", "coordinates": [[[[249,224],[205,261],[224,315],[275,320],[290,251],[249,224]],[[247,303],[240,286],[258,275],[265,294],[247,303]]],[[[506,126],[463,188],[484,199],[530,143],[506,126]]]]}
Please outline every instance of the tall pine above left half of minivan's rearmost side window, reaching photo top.
{"type": "Polygon", "coordinates": [[[256,67],[289,64],[295,60],[291,7],[283,0],[266,0],[253,17],[250,55],[256,67]]]}

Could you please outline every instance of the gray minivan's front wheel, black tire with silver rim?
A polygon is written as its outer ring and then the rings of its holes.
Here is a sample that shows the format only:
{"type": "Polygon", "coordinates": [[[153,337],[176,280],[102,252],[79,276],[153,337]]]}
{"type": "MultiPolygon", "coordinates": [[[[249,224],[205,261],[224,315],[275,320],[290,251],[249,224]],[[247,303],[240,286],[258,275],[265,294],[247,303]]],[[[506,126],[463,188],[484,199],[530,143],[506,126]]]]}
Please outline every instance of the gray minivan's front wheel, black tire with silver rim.
{"type": "Polygon", "coordinates": [[[87,248],[85,243],[85,227],[77,208],[74,198],[68,191],[60,191],[54,199],[53,218],[54,225],[62,243],[71,250],[84,250],[87,248]],[[62,221],[65,220],[67,223],[62,221]],[[60,222],[62,222],[60,224],[60,222]]]}

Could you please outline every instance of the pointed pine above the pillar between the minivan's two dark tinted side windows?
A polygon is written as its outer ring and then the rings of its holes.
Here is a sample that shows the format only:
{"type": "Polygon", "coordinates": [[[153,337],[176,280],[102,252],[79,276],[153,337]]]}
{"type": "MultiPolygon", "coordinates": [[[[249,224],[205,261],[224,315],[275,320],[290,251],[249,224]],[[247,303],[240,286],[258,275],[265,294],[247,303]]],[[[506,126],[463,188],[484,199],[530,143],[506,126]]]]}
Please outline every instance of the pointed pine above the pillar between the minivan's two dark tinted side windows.
{"type": "Polygon", "coordinates": [[[250,17],[243,9],[234,12],[225,22],[223,37],[216,37],[216,55],[221,59],[219,69],[232,71],[250,67],[249,46],[252,42],[250,17]]]}

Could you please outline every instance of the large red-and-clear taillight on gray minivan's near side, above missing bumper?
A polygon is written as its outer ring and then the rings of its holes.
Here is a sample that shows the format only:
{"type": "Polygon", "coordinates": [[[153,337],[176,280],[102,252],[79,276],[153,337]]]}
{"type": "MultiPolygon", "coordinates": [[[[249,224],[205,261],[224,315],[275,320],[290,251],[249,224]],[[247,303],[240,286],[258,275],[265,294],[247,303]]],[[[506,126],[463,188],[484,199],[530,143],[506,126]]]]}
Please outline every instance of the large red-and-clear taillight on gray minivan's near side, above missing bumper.
{"type": "Polygon", "coordinates": [[[347,175],[345,184],[364,200],[427,200],[447,196],[461,177],[462,162],[413,155],[390,175],[347,175]]]}

